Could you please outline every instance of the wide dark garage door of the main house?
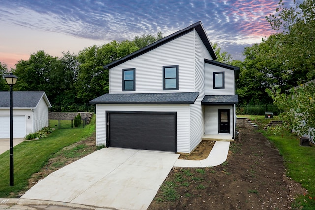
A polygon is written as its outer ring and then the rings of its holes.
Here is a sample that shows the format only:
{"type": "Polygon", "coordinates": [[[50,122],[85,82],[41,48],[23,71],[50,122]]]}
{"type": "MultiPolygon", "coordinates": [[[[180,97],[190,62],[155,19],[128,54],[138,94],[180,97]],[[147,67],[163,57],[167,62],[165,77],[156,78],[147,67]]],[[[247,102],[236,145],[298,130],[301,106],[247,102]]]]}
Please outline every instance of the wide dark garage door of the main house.
{"type": "Polygon", "coordinates": [[[109,146],[176,152],[176,112],[109,112],[109,146]]]}

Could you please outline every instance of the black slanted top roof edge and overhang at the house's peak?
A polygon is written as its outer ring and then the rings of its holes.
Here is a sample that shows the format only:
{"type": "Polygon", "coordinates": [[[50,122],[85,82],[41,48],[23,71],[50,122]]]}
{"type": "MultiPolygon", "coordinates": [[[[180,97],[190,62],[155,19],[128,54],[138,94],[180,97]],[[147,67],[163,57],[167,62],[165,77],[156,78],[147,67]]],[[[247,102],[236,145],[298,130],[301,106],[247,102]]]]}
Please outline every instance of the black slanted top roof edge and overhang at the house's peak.
{"type": "Polygon", "coordinates": [[[187,27],[185,29],[179,30],[179,31],[177,31],[177,32],[175,32],[175,33],[173,33],[173,34],[171,34],[169,36],[166,36],[166,37],[164,37],[164,38],[162,38],[162,39],[160,39],[160,40],[158,40],[158,41],[156,41],[156,42],[154,42],[154,43],[152,43],[152,44],[150,44],[150,45],[148,45],[148,46],[146,46],[146,47],[144,47],[144,48],[142,48],[140,50],[137,50],[137,51],[135,51],[135,52],[125,56],[124,58],[121,58],[119,60],[116,60],[116,61],[114,61],[112,63],[109,63],[109,64],[105,65],[104,69],[113,68],[113,67],[115,67],[115,66],[117,66],[117,65],[119,65],[121,63],[124,63],[124,62],[126,62],[128,60],[131,60],[131,59],[133,59],[135,57],[138,57],[138,56],[140,56],[140,55],[142,55],[144,53],[147,53],[147,52],[149,52],[149,51],[151,51],[151,50],[153,50],[153,49],[155,49],[155,48],[157,48],[157,47],[159,47],[159,46],[161,46],[163,44],[166,44],[167,42],[170,42],[170,41],[172,41],[172,40],[174,40],[174,39],[176,39],[176,38],[178,38],[180,36],[183,36],[183,35],[191,32],[191,31],[193,31],[193,29],[195,29],[197,31],[197,33],[199,34],[203,44],[206,46],[206,48],[209,51],[212,59],[216,60],[217,56],[216,56],[216,53],[215,53],[215,51],[213,50],[213,48],[211,46],[211,43],[210,43],[210,41],[208,39],[208,35],[206,34],[206,31],[204,30],[201,21],[198,21],[197,23],[194,23],[194,24],[190,25],[189,27],[187,27]]]}

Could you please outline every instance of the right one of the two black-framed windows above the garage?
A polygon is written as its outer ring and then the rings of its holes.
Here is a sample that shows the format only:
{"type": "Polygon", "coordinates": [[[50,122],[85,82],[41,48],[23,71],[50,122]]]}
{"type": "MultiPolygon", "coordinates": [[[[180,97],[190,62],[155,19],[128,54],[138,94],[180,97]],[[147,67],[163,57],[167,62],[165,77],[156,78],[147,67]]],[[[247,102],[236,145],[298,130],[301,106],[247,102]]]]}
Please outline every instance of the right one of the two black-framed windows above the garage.
{"type": "Polygon", "coordinates": [[[178,90],[178,65],[163,66],[163,90],[178,90]]]}

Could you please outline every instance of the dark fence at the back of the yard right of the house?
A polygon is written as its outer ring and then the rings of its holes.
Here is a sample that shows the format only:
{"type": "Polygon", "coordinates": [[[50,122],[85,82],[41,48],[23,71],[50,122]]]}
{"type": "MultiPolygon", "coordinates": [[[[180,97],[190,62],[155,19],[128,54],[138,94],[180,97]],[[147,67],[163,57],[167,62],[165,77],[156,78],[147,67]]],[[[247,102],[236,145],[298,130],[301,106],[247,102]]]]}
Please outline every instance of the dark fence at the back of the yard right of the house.
{"type": "Polygon", "coordinates": [[[272,112],[274,115],[279,115],[281,110],[274,104],[236,106],[237,115],[264,115],[265,112],[272,112]]]}

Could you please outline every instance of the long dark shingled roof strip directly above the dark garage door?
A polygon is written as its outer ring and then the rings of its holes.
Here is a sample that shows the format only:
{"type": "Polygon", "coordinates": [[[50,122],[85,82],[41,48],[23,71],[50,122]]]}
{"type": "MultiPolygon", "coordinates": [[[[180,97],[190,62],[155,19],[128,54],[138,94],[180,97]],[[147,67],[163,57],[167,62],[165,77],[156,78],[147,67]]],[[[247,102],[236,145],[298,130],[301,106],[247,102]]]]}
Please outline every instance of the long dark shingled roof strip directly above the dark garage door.
{"type": "Polygon", "coordinates": [[[193,104],[199,92],[104,94],[90,104],[193,104]]]}

